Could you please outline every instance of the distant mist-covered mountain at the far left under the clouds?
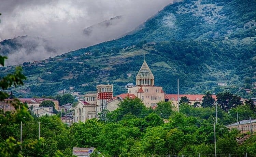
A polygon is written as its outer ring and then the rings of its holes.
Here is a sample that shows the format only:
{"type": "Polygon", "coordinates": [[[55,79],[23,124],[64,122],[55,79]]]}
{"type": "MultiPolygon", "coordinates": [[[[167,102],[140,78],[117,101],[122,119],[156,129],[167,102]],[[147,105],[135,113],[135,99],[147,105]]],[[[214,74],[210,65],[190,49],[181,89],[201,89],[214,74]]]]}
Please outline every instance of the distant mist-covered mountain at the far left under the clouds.
{"type": "Polygon", "coordinates": [[[5,65],[17,65],[55,56],[57,51],[46,39],[18,36],[0,42],[0,55],[8,56],[5,65]]]}

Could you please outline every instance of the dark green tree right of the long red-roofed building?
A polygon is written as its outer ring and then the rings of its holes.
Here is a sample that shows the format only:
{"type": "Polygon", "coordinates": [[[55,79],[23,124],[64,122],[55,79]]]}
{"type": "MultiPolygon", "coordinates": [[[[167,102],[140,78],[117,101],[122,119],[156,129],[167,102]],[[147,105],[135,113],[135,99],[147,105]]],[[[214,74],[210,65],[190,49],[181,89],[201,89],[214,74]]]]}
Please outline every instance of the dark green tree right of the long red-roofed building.
{"type": "Polygon", "coordinates": [[[242,104],[241,98],[230,92],[218,93],[216,96],[217,104],[226,112],[242,104]]]}

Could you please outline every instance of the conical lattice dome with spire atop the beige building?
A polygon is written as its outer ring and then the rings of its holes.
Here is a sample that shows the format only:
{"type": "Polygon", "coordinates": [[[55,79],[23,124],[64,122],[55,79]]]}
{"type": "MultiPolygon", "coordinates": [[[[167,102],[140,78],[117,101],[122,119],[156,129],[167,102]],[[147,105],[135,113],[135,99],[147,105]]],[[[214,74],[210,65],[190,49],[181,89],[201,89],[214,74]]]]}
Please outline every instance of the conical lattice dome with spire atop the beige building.
{"type": "Polygon", "coordinates": [[[136,86],[148,85],[154,86],[155,77],[148,67],[146,61],[144,60],[137,76],[136,76],[136,86]]]}

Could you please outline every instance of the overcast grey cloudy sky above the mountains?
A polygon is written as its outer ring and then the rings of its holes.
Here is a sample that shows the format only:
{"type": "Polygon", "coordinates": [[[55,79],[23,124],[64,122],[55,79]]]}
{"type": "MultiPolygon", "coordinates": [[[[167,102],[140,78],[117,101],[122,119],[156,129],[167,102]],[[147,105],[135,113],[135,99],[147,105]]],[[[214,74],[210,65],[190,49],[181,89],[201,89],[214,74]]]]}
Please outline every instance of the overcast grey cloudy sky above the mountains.
{"type": "Polygon", "coordinates": [[[172,0],[1,0],[0,41],[24,35],[36,36],[51,40],[58,53],[68,52],[118,38],[171,2],[172,0]],[[90,35],[83,33],[85,28],[115,16],[122,18],[108,27],[92,29],[93,33],[90,35]]]}

